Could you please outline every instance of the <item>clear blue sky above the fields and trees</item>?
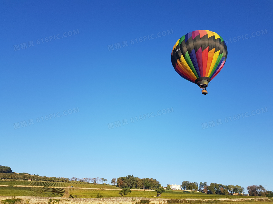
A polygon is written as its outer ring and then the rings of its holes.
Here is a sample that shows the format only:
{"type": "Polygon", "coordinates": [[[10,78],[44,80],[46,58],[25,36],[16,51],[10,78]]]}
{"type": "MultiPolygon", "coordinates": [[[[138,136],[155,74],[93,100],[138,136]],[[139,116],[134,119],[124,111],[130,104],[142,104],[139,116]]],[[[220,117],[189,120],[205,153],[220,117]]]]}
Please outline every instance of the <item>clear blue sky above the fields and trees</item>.
{"type": "Polygon", "coordinates": [[[271,1],[0,4],[0,165],[273,190],[271,1]],[[171,64],[200,29],[228,42],[207,95],[171,64]]]}

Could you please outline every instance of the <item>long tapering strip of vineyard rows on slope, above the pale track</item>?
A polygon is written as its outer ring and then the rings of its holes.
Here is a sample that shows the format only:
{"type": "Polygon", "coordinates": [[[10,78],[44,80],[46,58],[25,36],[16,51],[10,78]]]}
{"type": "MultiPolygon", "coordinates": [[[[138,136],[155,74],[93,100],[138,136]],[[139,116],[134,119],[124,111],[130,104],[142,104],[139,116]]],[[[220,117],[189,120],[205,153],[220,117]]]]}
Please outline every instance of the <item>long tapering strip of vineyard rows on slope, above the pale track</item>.
{"type": "MultiPolygon", "coordinates": [[[[7,184],[8,185],[8,184],[7,184]]],[[[61,183],[61,182],[46,182],[46,181],[33,181],[31,186],[55,186],[55,187],[76,187],[76,188],[118,188],[112,185],[102,184],[75,184],[75,183],[61,183]]]]}

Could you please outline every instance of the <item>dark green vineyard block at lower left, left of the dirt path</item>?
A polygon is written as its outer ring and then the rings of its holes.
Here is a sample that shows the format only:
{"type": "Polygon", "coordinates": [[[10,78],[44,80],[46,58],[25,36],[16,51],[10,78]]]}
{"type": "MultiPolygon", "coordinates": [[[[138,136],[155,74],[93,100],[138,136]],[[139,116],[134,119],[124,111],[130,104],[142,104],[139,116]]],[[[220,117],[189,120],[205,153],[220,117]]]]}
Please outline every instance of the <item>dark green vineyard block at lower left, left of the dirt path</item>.
{"type": "Polygon", "coordinates": [[[63,194],[64,188],[0,187],[0,196],[61,197],[63,194]]]}

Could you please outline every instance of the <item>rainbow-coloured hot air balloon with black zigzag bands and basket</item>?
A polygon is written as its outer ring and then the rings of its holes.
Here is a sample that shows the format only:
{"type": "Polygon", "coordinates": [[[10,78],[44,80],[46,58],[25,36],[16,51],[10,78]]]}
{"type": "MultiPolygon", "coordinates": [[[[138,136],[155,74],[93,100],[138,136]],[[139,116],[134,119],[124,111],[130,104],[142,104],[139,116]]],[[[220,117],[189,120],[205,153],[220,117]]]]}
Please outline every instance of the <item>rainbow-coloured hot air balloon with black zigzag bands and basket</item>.
{"type": "Polygon", "coordinates": [[[195,30],[183,35],[171,53],[176,72],[197,84],[204,95],[207,94],[209,82],[221,71],[226,59],[225,41],[209,30],[195,30]]]}

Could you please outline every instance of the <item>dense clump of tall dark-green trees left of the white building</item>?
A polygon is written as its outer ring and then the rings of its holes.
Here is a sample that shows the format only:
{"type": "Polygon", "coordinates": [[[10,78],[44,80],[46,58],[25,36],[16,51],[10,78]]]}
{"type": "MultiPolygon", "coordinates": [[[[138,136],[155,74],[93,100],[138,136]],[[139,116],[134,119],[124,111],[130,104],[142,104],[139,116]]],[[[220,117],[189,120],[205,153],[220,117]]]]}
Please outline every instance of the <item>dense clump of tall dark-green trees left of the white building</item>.
{"type": "Polygon", "coordinates": [[[133,175],[117,178],[117,187],[130,189],[156,189],[160,188],[159,181],[153,178],[138,178],[133,175]]]}

